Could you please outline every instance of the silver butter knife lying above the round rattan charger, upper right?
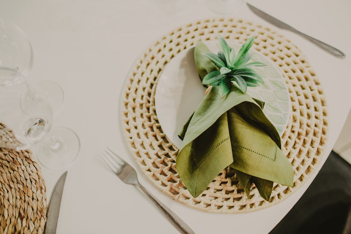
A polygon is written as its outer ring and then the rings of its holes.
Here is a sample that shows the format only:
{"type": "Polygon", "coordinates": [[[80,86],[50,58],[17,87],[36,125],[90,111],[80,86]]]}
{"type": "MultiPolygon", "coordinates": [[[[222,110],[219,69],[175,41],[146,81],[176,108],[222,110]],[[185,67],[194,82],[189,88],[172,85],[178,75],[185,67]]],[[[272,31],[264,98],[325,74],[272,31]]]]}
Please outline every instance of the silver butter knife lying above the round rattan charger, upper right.
{"type": "Polygon", "coordinates": [[[322,41],[319,41],[315,38],[312,38],[311,36],[309,35],[306,35],[300,31],[298,31],[297,29],[291,27],[290,25],[287,25],[285,24],[284,22],[274,18],[273,16],[261,11],[260,9],[257,9],[256,7],[252,6],[251,4],[249,3],[246,3],[247,6],[250,8],[250,10],[255,13],[257,16],[259,16],[261,19],[264,19],[265,21],[271,23],[272,25],[275,25],[277,26],[278,28],[281,28],[281,29],[285,29],[285,30],[289,30],[291,32],[294,32],[300,36],[303,36],[304,38],[306,38],[307,40],[311,41],[312,43],[316,44],[319,48],[323,49],[324,51],[330,53],[331,55],[334,55],[336,56],[337,58],[340,58],[340,59],[343,59],[346,57],[346,55],[339,51],[337,48],[335,47],[332,47],[328,44],[325,44],[324,42],[322,41]]]}

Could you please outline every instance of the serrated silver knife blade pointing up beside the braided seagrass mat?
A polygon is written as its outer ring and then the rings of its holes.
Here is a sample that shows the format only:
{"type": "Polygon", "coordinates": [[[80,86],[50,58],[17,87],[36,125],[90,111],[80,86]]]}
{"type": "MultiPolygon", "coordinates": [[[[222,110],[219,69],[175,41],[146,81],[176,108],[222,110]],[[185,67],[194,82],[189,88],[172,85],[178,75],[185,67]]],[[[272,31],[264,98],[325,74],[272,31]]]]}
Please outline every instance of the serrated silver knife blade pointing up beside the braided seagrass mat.
{"type": "Polygon", "coordinates": [[[59,219],[61,198],[64,191],[65,181],[66,181],[67,171],[61,175],[60,179],[54,186],[49,205],[46,214],[46,223],[44,234],[55,234],[57,228],[57,222],[59,219]]]}

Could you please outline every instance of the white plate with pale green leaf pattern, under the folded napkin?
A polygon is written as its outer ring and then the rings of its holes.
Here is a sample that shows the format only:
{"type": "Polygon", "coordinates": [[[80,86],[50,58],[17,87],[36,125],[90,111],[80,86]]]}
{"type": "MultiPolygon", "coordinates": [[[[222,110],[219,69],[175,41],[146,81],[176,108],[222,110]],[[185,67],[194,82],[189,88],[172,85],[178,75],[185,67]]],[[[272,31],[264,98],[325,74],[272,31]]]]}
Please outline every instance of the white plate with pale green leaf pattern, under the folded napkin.
{"type": "MultiPolygon", "coordinates": [[[[206,42],[205,45],[213,53],[217,54],[220,50],[217,42],[206,42]]],[[[240,45],[235,43],[229,43],[229,46],[236,52],[240,49],[240,45]]],[[[282,135],[291,109],[289,90],[274,63],[254,49],[251,49],[250,53],[253,54],[252,61],[263,62],[267,66],[256,69],[265,83],[258,87],[248,87],[247,94],[265,101],[263,112],[282,135]]],[[[179,53],[166,65],[155,93],[159,123],[168,139],[178,148],[181,146],[178,133],[204,96],[205,88],[197,73],[192,47],[179,53]]]]}

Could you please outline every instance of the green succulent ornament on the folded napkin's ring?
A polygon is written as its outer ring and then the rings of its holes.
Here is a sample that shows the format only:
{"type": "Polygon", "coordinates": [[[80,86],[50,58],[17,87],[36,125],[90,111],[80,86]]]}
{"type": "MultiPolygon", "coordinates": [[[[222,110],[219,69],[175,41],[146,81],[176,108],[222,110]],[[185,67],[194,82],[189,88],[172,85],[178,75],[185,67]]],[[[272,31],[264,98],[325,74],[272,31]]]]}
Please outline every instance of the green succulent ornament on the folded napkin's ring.
{"type": "Polygon", "coordinates": [[[256,87],[259,86],[259,83],[264,83],[252,68],[266,65],[261,62],[249,62],[252,54],[248,52],[254,37],[244,42],[238,54],[235,54],[234,49],[229,47],[221,36],[218,36],[218,41],[222,51],[219,51],[217,55],[210,52],[202,53],[219,68],[219,71],[210,72],[204,77],[203,85],[219,86],[220,95],[224,96],[229,93],[232,81],[235,81],[244,93],[246,93],[247,86],[256,87]]]}

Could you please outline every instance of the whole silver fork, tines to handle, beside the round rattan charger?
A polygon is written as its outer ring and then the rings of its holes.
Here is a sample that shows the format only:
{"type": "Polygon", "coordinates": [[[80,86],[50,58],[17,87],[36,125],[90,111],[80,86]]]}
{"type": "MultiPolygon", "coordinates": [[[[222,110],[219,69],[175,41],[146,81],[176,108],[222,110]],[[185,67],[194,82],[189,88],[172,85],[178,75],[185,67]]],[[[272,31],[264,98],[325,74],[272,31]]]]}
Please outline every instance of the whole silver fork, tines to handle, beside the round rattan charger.
{"type": "Polygon", "coordinates": [[[155,198],[144,186],[142,186],[138,181],[138,175],[135,169],[124,161],[120,156],[115,154],[110,148],[106,147],[104,152],[100,153],[101,158],[107,163],[111,170],[116,174],[119,179],[128,185],[135,185],[139,187],[148,198],[157,206],[161,213],[170,221],[181,233],[184,234],[195,234],[194,231],[176,214],[165,206],[161,201],[155,198]]]}

